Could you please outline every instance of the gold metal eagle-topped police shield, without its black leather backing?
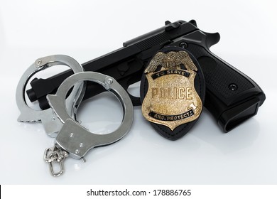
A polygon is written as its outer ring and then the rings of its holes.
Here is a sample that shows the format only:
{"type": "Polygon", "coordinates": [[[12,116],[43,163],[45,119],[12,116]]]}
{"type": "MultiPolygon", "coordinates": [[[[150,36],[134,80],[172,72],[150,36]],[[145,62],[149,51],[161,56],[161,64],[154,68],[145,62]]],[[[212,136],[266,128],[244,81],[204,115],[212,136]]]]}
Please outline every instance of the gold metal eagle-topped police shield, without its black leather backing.
{"type": "Polygon", "coordinates": [[[202,101],[194,86],[197,68],[187,52],[159,52],[144,73],[148,91],[142,113],[149,122],[163,124],[173,131],[200,116],[202,101]]]}

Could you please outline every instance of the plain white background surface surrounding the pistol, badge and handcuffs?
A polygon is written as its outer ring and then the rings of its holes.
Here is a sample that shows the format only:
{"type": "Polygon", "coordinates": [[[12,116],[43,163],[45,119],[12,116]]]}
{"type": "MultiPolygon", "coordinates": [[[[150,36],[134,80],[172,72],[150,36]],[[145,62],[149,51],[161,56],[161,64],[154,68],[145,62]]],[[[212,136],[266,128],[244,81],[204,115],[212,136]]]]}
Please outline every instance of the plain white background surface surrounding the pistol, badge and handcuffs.
{"type": "MultiPolygon", "coordinates": [[[[274,1],[0,0],[0,183],[276,184],[276,18],[274,1]],[[224,134],[204,110],[189,134],[169,141],[136,107],[124,139],[92,149],[86,163],[67,158],[63,176],[50,176],[43,152],[53,139],[42,124],[16,121],[16,85],[28,66],[54,54],[85,63],[166,20],[192,18],[201,30],[220,33],[212,52],[264,90],[266,101],[258,114],[224,134]]],[[[96,131],[111,131],[122,116],[109,95],[87,101],[78,113],[96,131]]]]}

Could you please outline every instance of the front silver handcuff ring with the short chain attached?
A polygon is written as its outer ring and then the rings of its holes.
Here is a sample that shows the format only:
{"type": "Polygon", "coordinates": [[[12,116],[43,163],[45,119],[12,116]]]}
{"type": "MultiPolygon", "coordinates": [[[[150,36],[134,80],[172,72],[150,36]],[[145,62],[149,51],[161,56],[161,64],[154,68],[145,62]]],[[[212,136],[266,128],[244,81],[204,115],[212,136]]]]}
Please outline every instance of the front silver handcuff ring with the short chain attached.
{"type": "Polygon", "coordinates": [[[65,157],[83,158],[89,149],[96,146],[104,146],[119,141],[127,134],[134,119],[134,109],[131,99],[121,85],[114,78],[98,72],[79,72],[67,77],[60,85],[55,95],[47,96],[48,103],[53,112],[62,121],[63,127],[55,138],[53,148],[45,150],[44,159],[49,163],[53,176],[60,176],[64,171],[63,161],[65,157]],[[102,85],[107,91],[112,92],[123,108],[124,116],[121,125],[109,134],[94,134],[76,122],[67,113],[65,97],[70,88],[77,82],[92,81],[102,85]],[[60,164],[60,171],[53,171],[53,163],[60,164]]]}

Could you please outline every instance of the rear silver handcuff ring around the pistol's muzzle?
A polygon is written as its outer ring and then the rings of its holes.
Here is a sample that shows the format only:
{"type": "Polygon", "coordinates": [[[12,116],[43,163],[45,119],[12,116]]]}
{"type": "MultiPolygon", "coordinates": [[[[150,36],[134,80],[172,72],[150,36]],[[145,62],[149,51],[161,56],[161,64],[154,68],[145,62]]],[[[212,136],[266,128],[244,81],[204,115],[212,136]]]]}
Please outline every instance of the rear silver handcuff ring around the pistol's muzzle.
{"type": "MultiPolygon", "coordinates": [[[[52,109],[35,110],[28,106],[25,98],[25,90],[28,80],[33,75],[41,70],[50,68],[53,65],[67,65],[73,72],[83,72],[82,65],[67,55],[51,55],[44,58],[38,58],[26,72],[23,73],[21,79],[18,82],[16,88],[16,104],[21,114],[18,117],[18,122],[42,122],[45,132],[52,137],[57,136],[57,132],[63,127],[63,122],[60,119],[56,119],[52,109]]],[[[74,87],[70,95],[66,99],[66,109],[70,113],[70,117],[75,118],[77,108],[82,101],[82,97],[85,91],[85,83],[78,82],[74,87]]]]}

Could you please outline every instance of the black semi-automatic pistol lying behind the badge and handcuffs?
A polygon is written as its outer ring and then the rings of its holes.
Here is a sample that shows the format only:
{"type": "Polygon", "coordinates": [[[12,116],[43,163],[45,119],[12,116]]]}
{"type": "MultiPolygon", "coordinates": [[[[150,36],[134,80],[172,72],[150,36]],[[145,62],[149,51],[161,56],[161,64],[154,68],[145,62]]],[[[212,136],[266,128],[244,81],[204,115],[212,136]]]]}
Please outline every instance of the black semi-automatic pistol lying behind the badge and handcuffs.
{"type": "MultiPolygon", "coordinates": [[[[205,107],[217,123],[227,132],[253,117],[266,96],[259,85],[229,63],[210,52],[209,48],[220,39],[219,33],[205,33],[197,28],[196,21],[165,21],[165,26],[123,43],[123,48],[82,64],[86,71],[101,72],[114,77],[126,90],[139,82],[153,55],[166,46],[179,46],[189,50],[200,63],[205,76],[205,107]]],[[[41,109],[49,104],[46,95],[55,94],[71,70],[47,79],[33,79],[27,95],[31,102],[38,100],[41,109]]],[[[104,92],[104,88],[87,82],[84,99],[104,92]]],[[[139,97],[130,95],[135,106],[139,97]]]]}

